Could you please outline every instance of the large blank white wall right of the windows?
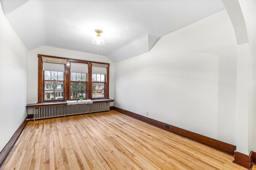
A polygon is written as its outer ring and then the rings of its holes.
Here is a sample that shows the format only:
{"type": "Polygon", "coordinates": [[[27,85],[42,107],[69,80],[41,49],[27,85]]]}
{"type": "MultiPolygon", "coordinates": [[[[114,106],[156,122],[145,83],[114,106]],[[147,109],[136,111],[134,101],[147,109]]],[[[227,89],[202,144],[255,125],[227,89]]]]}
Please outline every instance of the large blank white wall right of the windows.
{"type": "Polygon", "coordinates": [[[115,106],[236,145],[234,29],[226,11],[115,63],[115,106]]]}

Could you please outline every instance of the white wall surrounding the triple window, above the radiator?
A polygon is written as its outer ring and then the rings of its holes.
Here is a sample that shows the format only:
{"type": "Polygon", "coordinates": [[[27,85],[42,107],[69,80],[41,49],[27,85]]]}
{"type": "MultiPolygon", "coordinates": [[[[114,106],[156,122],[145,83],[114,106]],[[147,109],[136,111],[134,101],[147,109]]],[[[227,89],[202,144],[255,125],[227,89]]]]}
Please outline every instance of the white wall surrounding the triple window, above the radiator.
{"type": "MultiPolygon", "coordinates": [[[[56,57],[65,57],[72,59],[80,59],[87,61],[97,61],[102,63],[110,63],[109,77],[109,98],[114,98],[114,65],[107,57],[102,55],[94,55],[71,51],[55,47],[42,46],[29,51],[28,57],[28,104],[38,102],[38,54],[51,55],[56,57]]],[[[110,103],[113,106],[113,103],[110,103]]]]}

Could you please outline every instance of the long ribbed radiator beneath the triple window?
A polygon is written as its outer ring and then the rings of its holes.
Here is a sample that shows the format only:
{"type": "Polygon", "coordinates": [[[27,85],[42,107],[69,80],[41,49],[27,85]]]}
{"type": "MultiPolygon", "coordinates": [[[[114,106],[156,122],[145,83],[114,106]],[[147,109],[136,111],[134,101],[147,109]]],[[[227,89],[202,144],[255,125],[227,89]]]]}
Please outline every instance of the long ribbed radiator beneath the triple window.
{"type": "Polygon", "coordinates": [[[109,102],[93,104],[75,104],[67,106],[47,106],[34,108],[34,120],[46,119],[52,117],[62,117],[69,115],[78,115],[83,113],[94,113],[100,111],[109,111],[109,102]]]}

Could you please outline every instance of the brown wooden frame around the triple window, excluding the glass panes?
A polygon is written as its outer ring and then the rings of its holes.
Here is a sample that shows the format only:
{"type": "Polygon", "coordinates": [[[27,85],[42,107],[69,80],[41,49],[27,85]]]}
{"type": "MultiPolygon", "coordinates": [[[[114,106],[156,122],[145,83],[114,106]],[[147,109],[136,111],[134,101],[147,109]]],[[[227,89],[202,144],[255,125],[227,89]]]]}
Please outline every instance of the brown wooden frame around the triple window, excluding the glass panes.
{"type": "MultiPolygon", "coordinates": [[[[100,99],[109,99],[109,63],[100,63],[100,62],[94,62],[94,61],[86,61],[86,60],[79,60],[79,59],[70,59],[70,58],[64,58],[64,57],[55,57],[55,56],[49,56],[49,55],[41,55],[38,54],[38,103],[45,103],[45,102],[60,102],[60,101],[66,101],[70,100],[70,86],[71,86],[71,73],[70,73],[70,63],[82,63],[82,64],[88,64],[88,73],[87,73],[87,82],[86,82],[86,96],[87,99],[96,100],[99,98],[92,98],[92,63],[97,64],[106,64],[108,65],[107,68],[107,74],[105,77],[105,98],[100,99]],[[63,87],[63,100],[54,100],[54,101],[44,101],[44,75],[43,75],[43,62],[42,57],[48,57],[48,58],[54,58],[54,59],[65,59],[67,60],[65,64],[65,72],[64,72],[64,87],[63,87]]],[[[75,99],[72,99],[75,100],[75,99]]]]}

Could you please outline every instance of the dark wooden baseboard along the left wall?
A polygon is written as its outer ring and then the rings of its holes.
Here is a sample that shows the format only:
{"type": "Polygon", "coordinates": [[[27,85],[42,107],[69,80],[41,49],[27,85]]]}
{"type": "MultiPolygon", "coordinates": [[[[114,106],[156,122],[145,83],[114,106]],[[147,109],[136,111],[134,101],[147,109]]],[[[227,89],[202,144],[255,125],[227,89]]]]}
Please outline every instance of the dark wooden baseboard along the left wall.
{"type": "Polygon", "coordinates": [[[24,127],[26,126],[26,124],[27,124],[26,119],[21,123],[20,127],[16,130],[14,135],[12,135],[12,138],[10,139],[10,141],[5,145],[4,149],[0,152],[0,168],[1,168],[2,164],[4,163],[6,157],[10,153],[12,147],[16,143],[18,137],[22,133],[24,127]]]}

